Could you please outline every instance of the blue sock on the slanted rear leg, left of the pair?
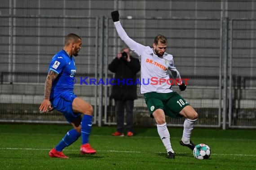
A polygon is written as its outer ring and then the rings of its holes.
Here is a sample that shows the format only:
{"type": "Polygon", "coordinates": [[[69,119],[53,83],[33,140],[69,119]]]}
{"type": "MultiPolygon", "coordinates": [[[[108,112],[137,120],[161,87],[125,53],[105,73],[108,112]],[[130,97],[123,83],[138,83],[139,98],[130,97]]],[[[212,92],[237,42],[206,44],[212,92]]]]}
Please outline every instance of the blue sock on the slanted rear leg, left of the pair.
{"type": "Polygon", "coordinates": [[[62,151],[65,147],[73,144],[78,138],[81,136],[78,132],[75,131],[75,129],[71,129],[66,133],[64,138],[60,141],[60,143],[57,144],[55,149],[57,151],[62,151]]]}

